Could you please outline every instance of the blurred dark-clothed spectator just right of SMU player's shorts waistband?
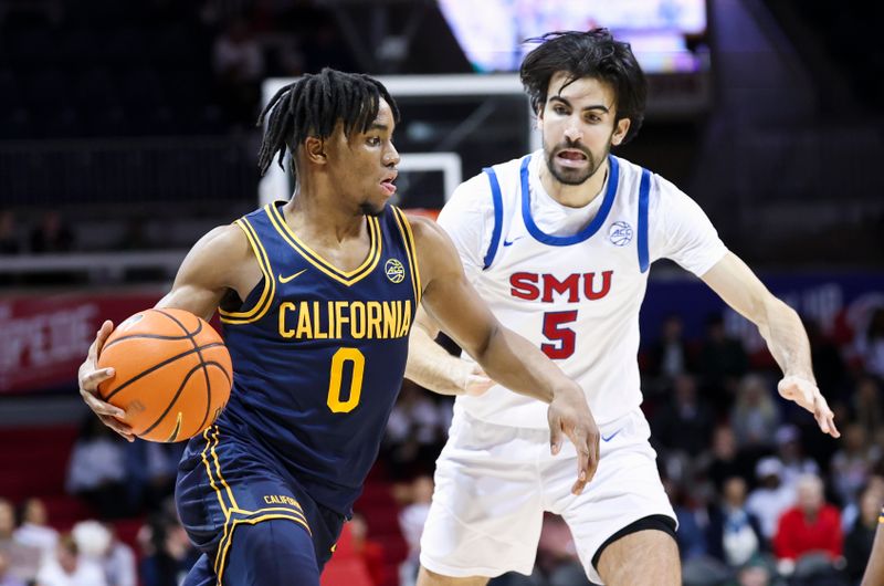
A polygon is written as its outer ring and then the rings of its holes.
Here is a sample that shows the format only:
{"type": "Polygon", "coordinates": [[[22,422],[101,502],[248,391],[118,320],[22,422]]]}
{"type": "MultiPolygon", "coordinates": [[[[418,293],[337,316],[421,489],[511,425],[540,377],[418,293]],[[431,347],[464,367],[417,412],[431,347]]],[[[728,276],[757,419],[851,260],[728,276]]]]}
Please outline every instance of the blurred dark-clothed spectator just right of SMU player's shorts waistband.
{"type": "Polygon", "coordinates": [[[694,377],[681,375],[673,381],[672,401],[654,419],[654,436],[670,450],[696,457],[709,446],[714,420],[694,377]]]}

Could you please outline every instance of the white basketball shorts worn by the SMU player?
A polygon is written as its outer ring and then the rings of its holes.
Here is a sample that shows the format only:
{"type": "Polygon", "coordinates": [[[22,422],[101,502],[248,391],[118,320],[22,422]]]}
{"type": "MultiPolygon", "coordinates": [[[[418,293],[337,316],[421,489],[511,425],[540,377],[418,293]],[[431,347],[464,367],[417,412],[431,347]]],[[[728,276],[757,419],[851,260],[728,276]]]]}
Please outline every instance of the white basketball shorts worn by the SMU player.
{"type": "Polygon", "coordinates": [[[674,521],[675,513],[641,411],[600,431],[599,468],[575,496],[577,452],[569,441],[554,457],[546,429],[487,423],[455,408],[436,461],[421,564],[450,577],[529,575],[544,511],[549,511],[568,523],[587,576],[601,584],[592,557],[608,537],[645,516],[674,521]]]}

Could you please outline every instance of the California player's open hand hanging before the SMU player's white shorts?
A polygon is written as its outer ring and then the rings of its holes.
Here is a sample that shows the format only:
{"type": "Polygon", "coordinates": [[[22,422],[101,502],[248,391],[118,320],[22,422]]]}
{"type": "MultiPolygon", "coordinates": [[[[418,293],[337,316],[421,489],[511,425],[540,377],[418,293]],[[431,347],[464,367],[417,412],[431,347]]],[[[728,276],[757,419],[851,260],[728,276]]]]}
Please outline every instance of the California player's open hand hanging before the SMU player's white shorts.
{"type": "Polygon", "coordinates": [[[577,448],[577,482],[571,493],[580,494],[599,467],[599,427],[579,386],[556,393],[547,410],[547,422],[552,456],[561,451],[562,435],[577,448]]]}

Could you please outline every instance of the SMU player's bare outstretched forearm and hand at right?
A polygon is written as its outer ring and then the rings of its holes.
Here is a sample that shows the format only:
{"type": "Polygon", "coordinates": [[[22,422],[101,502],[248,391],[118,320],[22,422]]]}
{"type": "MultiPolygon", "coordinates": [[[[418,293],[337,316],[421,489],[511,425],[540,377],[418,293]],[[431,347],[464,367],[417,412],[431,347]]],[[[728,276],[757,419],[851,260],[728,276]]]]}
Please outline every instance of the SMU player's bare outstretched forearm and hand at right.
{"type": "Polygon", "coordinates": [[[798,314],[775,297],[736,254],[728,252],[702,276],[728,305],[758,326],[782,370],[777,388],[817,419],[823,433],[838,438],[834,415],[817,387],[810,343],[798,314]]]}

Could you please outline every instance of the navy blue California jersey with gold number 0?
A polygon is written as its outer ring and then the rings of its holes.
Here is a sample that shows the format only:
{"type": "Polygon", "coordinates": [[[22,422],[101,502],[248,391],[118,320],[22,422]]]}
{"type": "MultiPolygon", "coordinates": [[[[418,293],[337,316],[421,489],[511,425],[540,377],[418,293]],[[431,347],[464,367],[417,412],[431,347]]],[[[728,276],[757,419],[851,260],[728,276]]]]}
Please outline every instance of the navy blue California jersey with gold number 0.
{"type": "Polygon", "coordinates": [[[267,205],[236,221],[263,281],[221,312],[233,393],[218,420],[264,443],[320,504],[349,513],[399,393],[420,302],[411,228],[388,206],[366,217],[370,251],[340,271],[267,205]]]}

